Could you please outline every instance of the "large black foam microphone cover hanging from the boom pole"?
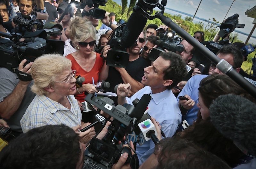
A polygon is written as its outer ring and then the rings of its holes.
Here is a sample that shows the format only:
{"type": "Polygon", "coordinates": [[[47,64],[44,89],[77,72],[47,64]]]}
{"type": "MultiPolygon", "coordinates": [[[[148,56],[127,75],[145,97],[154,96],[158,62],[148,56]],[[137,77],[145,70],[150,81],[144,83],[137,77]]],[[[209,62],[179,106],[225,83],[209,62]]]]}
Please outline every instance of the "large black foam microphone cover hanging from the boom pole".
{"type": "Polygon", "coordinates": [[[121,37],[121,46],[123,48],[129,48],[134,44],[146,25],[147,20],[143,15],[139,15],[136,12],[132,13],[121,37]]]}

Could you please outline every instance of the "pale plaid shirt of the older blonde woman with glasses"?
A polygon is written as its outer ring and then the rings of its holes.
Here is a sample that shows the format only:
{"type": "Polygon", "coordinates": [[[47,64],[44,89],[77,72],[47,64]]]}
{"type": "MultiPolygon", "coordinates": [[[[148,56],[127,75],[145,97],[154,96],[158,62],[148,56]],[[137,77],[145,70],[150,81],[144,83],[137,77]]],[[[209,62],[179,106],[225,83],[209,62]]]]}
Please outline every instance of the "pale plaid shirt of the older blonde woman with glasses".
{"type": "Polygon", "coordinates": [[[81,124],[82,114],[74,95],[68,95],[71,110],[45,95],[36,95],[20,120],[24,133],[36,127],[48,124],[65,124],[74,127],[81,124]]]}

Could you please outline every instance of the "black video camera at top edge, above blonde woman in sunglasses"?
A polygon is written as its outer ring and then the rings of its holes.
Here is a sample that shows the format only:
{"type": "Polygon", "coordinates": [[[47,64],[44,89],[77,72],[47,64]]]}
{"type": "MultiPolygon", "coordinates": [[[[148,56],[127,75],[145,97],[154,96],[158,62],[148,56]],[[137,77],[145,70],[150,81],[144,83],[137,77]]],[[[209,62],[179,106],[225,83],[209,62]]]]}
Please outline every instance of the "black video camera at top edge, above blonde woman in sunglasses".
{"type": "Polygon", "coordinates": [[[106,11],[99,9],[99,5],[106,6],[108,0],[82,0],[81,2],[83,4],[81,8],[84,8],[86,5],[91,8],[94,4],[94,8],[89,11],[90,16],[93,16],[93,18],[103,19],[105,17],[106,11]]]}

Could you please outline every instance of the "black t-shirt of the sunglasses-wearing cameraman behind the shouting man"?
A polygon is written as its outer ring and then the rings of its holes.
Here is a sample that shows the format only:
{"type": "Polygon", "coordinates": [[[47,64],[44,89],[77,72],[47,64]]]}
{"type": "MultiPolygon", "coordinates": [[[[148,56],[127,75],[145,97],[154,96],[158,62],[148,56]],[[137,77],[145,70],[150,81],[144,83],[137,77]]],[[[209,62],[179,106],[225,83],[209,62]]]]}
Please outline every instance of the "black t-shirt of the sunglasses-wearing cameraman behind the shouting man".
{"type": "MultiPolygon", "coordinates": [[[[144,58],[139,57],[137,60],[129,61],[125,70],[134,80],[141,82],[141,79],[144,76],[144,68],[148,66],[147,61],[144,58]]],[[[120,73],[115,67],[111,66],[109,67],[108,79],[106,81],[110,83],[110,88],[108,89],[110,92],[115,92],[114,88],[117,84],[124,83],[120,73]]],[[[115,105],[117,105],[117,97],[111,97],[111,99],[114,100],[115,105]]]]}

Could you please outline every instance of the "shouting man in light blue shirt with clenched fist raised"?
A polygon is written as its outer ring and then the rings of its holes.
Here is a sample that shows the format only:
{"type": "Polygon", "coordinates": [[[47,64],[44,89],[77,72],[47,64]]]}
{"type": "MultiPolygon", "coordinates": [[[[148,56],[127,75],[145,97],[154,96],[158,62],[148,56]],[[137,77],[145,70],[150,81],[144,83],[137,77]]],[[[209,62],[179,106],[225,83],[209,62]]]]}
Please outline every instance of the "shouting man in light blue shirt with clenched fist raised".
{"type": "MultiPolygon", "coordinates": [[[[127,98],[131,85],[120,84],[117,88],[118,104],[132,104],[136,98],[140,99],[143,94],[150,94],[148,113],[156,118],[162,126],[166,137],[172,137],[181,123],[181,112],[171,88],[186,76],[186,63],[180,55],[173,52],[165,52],[159,56],[151,66],[144,69],[141,83],[146,87],[140,89],[131,98],[127,98]]],[[[155,144],[152,140],[143,145],[137,145],[136,153],[139,163],[142,164],[154,151],[155,144]]]]}

